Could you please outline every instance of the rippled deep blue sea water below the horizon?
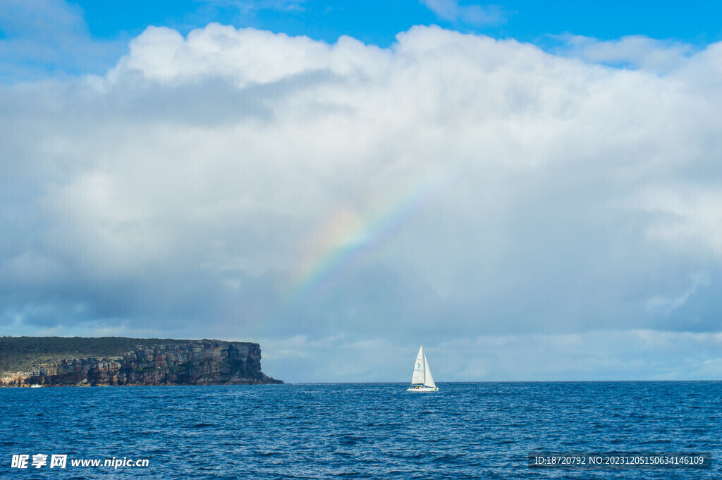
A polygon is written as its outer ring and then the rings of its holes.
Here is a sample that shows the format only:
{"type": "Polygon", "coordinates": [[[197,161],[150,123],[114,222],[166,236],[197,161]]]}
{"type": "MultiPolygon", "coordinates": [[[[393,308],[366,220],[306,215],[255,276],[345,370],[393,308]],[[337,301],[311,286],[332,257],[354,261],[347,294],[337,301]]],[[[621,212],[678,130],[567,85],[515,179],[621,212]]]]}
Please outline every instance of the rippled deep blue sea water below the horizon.
{"type": "Polygon", "coordinates": [[[2,479],[717,479],[722,382],[0,389],[2,479]],[[709,451],[707,470],[539,469],[527,455],[709,451]],[[29,468],[12,468],[12,455],[29,468]],[[32,468],[32,455],[68,455],[32,468]],[[71,459],[147,459],[147,467],[71,459]]]}

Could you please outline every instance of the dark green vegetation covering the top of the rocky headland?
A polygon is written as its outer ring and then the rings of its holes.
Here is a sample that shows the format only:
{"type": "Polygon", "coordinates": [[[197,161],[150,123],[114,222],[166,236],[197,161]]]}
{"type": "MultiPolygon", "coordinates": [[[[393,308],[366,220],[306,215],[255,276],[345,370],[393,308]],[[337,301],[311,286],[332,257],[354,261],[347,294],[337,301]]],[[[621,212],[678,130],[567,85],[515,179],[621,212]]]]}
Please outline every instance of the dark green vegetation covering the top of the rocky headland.
{"type": "Polygon", "coordinates": [[[192,340],[129,339],[123,336],[97,338],[63,336],[0,337],[0,373],[24,372],[40,363],[64,358],[115,357],[138,346],[183,344],[192,340]]]}

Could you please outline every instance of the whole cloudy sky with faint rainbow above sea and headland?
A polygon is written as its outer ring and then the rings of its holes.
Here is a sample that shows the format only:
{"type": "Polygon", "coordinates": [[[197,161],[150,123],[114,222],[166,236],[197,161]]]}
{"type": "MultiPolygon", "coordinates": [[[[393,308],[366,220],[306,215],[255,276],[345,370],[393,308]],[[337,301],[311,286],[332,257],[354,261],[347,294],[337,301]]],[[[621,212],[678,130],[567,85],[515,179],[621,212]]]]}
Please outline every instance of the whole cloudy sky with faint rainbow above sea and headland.
{"type": "Polygon", "coordinates": [[[722,4],[571,3],[1,0],[0,334],[719,379],[722,4]]]}

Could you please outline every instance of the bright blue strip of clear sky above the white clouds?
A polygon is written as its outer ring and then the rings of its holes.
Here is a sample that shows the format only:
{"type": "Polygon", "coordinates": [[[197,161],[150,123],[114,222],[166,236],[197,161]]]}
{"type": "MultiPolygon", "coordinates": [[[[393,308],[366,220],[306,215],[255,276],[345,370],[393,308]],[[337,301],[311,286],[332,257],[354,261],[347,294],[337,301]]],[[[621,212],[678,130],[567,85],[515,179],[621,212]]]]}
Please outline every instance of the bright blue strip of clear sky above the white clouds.
{"type": "MultiPolygon", "coordinates": [[[[428,2],[444,4],[452,1],[428,2]]],[[[396,33],[413,25],[442,27],[483,33],[495,38],[535,41],[546,35],[570,32],[601,40],[624,35],[674,38],[704,45],[721,40],[722,7],[714,1],[509,1],[489,6],[485,21],[438,14],[422,1],[79,1],[95,38],[115,39],[139,35],[147,25],[165,25],[186,34],[220,22],[235,27],[256,27],[289,35],[308,35],[334,43],[350,35],[364,43],[386,47],[396,33]]],[[[470,2],[459,2],[470,6],[470,2]]],[[[447,7],[448,9],[448,7],[447,7]]]]}

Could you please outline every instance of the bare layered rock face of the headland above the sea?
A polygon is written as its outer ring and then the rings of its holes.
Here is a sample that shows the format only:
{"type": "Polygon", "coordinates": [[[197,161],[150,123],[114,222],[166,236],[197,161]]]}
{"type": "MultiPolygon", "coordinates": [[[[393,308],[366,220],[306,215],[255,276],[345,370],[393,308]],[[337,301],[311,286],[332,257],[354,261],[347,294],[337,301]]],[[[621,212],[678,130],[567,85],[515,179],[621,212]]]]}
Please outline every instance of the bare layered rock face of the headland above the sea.
{"type": "Polygon", "coordinates": [[[138,346],[113,357],[67,358],[4,373],[0,386],[217,385],[283,383],[261,372],[261,347],[201,340],[138,346]]]}

